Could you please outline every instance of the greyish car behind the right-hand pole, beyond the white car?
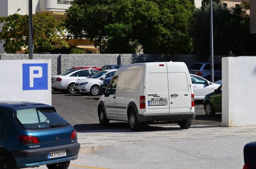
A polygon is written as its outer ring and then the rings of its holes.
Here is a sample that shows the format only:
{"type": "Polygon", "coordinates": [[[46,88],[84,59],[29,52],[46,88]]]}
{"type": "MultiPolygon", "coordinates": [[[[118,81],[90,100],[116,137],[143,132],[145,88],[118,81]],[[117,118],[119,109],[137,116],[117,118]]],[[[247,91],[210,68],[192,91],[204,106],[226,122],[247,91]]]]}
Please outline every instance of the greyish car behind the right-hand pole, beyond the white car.
{"type": "MultiPolygon", "coordinates": [[[[189,73],[198,75],[204,79],[211,80],[210,62],[198,62],[194,63],[189,68],[189,73]]],[[[221,79],[221,62],[214,63],[214,80],[221,79]]]]}

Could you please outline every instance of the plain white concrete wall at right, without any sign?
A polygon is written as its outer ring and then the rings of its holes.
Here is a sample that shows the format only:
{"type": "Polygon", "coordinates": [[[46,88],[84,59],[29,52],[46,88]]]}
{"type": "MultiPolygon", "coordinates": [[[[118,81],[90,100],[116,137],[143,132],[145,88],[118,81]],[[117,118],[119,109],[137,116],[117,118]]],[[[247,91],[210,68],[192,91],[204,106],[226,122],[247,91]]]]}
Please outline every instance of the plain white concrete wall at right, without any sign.
{"type": "Polygon", "coordinates": [[[256,125],[256,57],[222,58],[222,126],[256,125]]]}

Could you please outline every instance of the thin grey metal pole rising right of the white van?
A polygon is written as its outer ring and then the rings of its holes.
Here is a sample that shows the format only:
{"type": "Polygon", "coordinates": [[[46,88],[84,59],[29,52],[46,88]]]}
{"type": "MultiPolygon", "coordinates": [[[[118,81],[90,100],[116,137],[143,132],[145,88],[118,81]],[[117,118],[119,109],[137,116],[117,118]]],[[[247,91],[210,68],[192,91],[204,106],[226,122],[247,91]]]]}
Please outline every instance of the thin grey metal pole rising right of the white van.
{"type": "Polygon", "coordinates": [[[212,26],[212,0],[210,0],[210,76],[211,82],[214,82],[214,33],[212,26]]]}

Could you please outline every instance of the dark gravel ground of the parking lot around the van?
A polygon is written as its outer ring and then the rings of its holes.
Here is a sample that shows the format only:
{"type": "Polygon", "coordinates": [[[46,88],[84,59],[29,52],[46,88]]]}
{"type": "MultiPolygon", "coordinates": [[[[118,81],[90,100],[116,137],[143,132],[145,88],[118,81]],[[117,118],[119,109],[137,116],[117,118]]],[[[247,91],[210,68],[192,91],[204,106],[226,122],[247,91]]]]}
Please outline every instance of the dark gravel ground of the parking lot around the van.
{"type": "MultiPolygon", "coordinates": [[[[52,105],[57,112],[66,118],[76,130],[104,130],[110,128],[127,128],[128,123],[111,121],[108,127],[101,127],[98,122],[97,105],[100,96],[66,94],[52,92],[52,105]]],[[[221,113],[213,117],[205,115],[202,102],[196,102],[196,118],[192,121],[192,126],[221,126],[221,113]]],[[[154,125],[166,125],[156,123],[154,125]]],[[[169,125],[169,124],[167,124],[169,125]]],[[[174,124],[177,125],[177,124],[174,124]]]]}

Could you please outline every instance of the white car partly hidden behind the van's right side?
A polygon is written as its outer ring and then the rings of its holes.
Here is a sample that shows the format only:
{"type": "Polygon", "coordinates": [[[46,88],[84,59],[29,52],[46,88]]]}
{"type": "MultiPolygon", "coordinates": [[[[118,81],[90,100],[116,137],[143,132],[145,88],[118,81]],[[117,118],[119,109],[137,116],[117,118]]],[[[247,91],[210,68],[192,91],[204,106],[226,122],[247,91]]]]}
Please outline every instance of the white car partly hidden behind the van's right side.
{"type": "Polygon", "coordinates": [[[220,84],[211,83],[210,81],[197,75],[190,74],[190,78],[194,90],[195,100],[203,100],[206,94],[214,92],[214,90],[220,86],[220,84]]]}

